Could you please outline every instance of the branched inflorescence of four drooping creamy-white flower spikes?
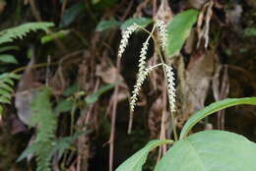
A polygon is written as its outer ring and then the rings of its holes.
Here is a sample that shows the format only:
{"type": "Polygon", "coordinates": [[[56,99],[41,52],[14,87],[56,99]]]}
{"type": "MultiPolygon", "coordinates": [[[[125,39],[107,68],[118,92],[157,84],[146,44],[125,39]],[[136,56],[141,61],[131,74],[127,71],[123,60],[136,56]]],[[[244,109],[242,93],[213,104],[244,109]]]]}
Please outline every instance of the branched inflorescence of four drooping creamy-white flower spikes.
{"type": "MultiPolygon", "coordinates": [[[[164,51],[165,45],[166,45],[166,40],[167,40],[167,33],[166,33],[166,26],[163,21],[158,21],[156,26],[159,28],[159,33],[160,33],[160,47],[164,51]]],[[[140,28],[138,25],[133,24],[126,30],[122,32],[122,39],[120,42],[119,50],[118,50],[118,57],[121,57],[122,54],[125,51],[126,46],[128,45],[128,40],[131,36],[131,34],[136,30],[140,28]]],[[[140,59],[139,59],[139,73],[138,73],[138,78],[136,81],[136,85],[134,85],[134,89],[132,91],[132,96],[130,99],[130,109],[133,112],[134,108],[136,106],[139,92],[141,90],[141,87],[143,83],[145,82],[147,76],[149,73],[156,67],[158,66],[163,66],[164,72],[166,73],[167,77],[167,91],[168,91],[168,100],[169,100],[169,106],[170,106],[170,111],[173,112],[175,111],[175,87],[174,87],[174,74],[172,72],[171,66],[167,66],[164,63],[157,64],[152,67],[147,67],[146,66],[146,58],[147,58],[147,52],[149,48],[149,40],[152,36],[154,36],[152,33],[154,32],[155,27],[153,28],[152,32],[150,33],[149,37],[147,40],[143,43],[141,52],[140,52],[140,59]]],[[[149,33],[149,32],[148,32],[149,33]]],[[[155,40],[155,38],[153,37],[155,40]]],[[[155,41],[156,43],[156,41],[155,41]]]]}

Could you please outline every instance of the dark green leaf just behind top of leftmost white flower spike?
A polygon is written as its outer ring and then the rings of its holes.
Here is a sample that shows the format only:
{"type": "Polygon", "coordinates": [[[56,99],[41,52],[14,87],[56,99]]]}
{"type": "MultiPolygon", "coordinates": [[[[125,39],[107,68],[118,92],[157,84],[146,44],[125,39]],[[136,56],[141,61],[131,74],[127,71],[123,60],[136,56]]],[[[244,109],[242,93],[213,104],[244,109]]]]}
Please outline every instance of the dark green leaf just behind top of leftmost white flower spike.
{"type": "Polygon", "coordinates": [[[152,23],[153,23],[153,20],[150,18],[133,18],[125,21],[124,24],[121,26],[121,29],[129,28],[133,24],[137,24],[143,28],[146,28],[152,23]]]}

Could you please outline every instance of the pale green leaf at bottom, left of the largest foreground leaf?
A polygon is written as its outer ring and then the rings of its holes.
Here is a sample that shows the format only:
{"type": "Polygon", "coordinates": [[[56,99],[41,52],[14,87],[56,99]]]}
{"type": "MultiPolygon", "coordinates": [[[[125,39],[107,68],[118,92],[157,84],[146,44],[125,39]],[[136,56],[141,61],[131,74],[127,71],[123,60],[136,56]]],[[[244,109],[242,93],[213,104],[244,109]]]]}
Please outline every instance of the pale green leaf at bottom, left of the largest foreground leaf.
{"type": "Polygon", "coordinates": [[[137,151],[125,162],[123,162],[115,171],[141,171],[143,164],[146,162],[149,152],[155,147],[165,144],[172,143],[172,141],[151,141],[141,150],[137,151]]]}

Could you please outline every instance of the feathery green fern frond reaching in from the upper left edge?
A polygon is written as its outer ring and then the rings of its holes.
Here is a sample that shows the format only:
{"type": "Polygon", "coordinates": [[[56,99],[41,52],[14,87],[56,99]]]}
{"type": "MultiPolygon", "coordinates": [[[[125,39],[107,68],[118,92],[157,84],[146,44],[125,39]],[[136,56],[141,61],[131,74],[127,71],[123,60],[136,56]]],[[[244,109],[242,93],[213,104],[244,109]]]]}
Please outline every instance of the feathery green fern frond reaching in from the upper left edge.
{"type": "Polygon", "coordinates": [[[15,38],[23,38],[29,32],[35,30],[44,30],[47,31],[47,28],[53,27],[53,23],[48,22],[34,22],[20,25],[14,28],[7,28],[0,32],[0,44],[6,42],[12,42],[15,38]]]}

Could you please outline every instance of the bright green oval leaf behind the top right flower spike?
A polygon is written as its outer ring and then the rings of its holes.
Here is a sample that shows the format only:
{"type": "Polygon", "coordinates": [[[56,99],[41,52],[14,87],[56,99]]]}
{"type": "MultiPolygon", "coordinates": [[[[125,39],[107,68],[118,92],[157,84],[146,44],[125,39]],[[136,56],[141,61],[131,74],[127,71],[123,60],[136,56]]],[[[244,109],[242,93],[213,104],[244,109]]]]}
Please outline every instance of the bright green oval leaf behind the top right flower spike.
{"type": "Polygon", "coordinates": [[[178,55],[191,28],[197,21],[198,11],[187,10],[173,18],[167,27],[166,53],[170,57],[178,55]]]}

